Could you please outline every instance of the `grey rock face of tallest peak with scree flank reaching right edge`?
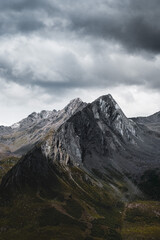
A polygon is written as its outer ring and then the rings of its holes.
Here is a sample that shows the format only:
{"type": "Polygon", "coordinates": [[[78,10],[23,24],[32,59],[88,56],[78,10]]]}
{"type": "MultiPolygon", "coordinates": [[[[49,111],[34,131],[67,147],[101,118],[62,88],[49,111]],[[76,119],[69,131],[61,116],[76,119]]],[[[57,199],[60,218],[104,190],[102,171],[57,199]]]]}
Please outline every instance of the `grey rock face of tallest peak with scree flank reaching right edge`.
{"type": "Polygon", "coordinates": [[[114,99],[102,96],[73,115],[54,134],[53,161],[71,162],[104,172],[112,167],[142,174],[159,166],[160,139],[124,115],[114,99]]]}

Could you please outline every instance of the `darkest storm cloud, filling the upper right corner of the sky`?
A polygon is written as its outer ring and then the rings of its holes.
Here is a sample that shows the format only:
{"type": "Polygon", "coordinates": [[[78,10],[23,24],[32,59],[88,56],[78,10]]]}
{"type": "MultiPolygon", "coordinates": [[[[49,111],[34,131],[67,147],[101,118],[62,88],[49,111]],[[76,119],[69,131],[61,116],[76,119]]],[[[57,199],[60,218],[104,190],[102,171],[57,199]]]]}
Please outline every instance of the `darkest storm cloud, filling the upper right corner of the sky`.
{"type": "Polygon", "coordinates": [[[159,54],[160,1],[119,2],[100,1],[95,8],[82,10],[78,15],[75,12],[71,16],[72,30],[83,36],[113,40],[136,53],[145,50],[159,54]]]}

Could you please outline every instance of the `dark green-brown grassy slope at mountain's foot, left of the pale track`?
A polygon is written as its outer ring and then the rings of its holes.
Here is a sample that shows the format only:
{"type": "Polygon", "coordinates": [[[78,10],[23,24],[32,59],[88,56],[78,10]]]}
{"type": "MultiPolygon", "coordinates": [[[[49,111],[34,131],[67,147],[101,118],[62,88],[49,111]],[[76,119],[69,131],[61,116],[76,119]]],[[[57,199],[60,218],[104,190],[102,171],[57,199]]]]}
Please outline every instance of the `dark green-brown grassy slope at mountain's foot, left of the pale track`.
{"type": "Polygon", "coordinates": [[[30,193],[1,202],[0,239],[120,240],[123,205],[107,186],[98,186],[78,168],[71,172],[72,176],[57,172],[59,186],[53,192],[39,191],[36,196],[30,193]]]}

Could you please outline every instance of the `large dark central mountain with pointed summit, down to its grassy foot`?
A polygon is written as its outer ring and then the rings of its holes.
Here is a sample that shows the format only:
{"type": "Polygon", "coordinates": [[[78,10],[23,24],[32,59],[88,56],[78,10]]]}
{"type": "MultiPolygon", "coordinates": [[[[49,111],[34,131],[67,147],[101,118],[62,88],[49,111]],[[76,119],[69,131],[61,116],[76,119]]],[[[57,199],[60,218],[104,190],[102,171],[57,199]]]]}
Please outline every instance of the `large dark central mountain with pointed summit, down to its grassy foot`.
{"type": "Polygon", "coordinates": [[[111,95],[74,100],[52,114],[39,120],[34,113],[12,127],[31,126],[33,137],[41,126],[43,137],[2,179],[2,237],[158,240],[158,132],[128,119],[111,95]]]}

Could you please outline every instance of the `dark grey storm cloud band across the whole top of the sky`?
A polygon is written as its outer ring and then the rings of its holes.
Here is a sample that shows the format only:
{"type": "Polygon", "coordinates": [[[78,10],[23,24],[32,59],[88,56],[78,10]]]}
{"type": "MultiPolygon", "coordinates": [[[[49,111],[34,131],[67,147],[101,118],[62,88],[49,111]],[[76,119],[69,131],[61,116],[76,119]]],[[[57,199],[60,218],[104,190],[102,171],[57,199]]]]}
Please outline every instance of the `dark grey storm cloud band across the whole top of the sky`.
{"type": "Polygon", "coordinates": [[[59,32],[73,32],[77,37],[112,40],[128,51],[160,52],[160,1],[158,0],[6,0],[0,2],[1,34],[50,32],[46,16],[53,22],[69,24],[59,32]],[[7,12],[7,13],[6,13],[7,12]],[[4,16],[5,14],[5,16],[4,16]]]}

